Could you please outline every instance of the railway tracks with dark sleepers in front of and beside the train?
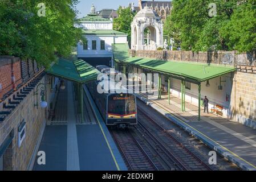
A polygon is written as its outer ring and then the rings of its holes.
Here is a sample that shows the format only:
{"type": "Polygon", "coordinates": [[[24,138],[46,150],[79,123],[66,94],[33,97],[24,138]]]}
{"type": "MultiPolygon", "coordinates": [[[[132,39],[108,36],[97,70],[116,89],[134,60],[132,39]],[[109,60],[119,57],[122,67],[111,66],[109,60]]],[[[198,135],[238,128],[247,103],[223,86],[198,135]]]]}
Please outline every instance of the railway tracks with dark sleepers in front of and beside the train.
{"type": "Polygon", "coordinates": [[[137,111],[137,126],[111,130],[129,170],[213,170],[139,107],[137,111]]]}

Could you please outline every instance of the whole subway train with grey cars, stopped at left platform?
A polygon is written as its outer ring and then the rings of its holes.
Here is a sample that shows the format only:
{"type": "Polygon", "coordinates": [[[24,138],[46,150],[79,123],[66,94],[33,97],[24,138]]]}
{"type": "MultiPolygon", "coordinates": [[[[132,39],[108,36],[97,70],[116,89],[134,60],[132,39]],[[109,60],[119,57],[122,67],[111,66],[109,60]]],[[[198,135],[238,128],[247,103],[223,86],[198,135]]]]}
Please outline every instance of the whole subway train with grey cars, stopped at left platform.
{"type": "MultiPolygon", "coordinates": [[[[100,94],[97,87],[104,90],[105,81],[94,81],[86,84],[101,116],[107,126],[116,126],[127,128],[131,125],[137,125],[137,105],[135,94],[108,92],[100,94]]],[[[107,82],[109,88],[111,82],[107,82]]],[[[112,83],[115,84],[115,83],[112,83]]],[[[113,86],[113,85],[112,85],[113,86]]],[[[113,87],[115,88],[115,87],[113,87]]],[[[124,88],[122,88],[124,89],[124,88]]]]}

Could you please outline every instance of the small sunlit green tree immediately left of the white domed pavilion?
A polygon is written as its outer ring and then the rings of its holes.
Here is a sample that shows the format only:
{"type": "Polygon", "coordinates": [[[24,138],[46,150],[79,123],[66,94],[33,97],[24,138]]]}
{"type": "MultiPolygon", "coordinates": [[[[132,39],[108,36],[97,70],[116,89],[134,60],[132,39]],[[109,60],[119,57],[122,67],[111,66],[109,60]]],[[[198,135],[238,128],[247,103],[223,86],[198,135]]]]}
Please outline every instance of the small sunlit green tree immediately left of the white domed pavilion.
{"type": "Polygon", "coordinates": [[[117,10],[118,18],[113,20],[113,29],[128,34],[128,40],[131,40],[131,23],[135,13],[131,11],[131,7],[123,9],[119,7],[117,10]]]}

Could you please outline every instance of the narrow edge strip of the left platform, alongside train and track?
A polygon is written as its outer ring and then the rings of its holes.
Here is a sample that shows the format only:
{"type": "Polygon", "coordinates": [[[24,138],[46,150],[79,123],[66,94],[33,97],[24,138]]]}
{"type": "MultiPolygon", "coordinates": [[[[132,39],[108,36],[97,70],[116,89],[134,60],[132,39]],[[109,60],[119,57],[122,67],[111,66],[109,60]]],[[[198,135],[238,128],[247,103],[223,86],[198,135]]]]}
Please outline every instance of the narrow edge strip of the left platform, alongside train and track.
{"type": "Polygon", "coordinates": [[[97,106],[95,105],[94,101],[92,100],[92,97],[91,97],[88,89],[86,88],[86,86],[84,86],[83,88],[84,88],[84,92],[86,93],[88,100],[90,101],[92,110],[94,111],[94,114],[96,115],[98,121],[100,122],[100,126],[102,127],[104,135],[108,140],[109,147],[111,148],[111,151],[115,157],[116,163],[118,164],[120,171],[128,171],[127,166],[124,163],[124,159],[121,156],[118,148],[116,147],[116,143],[114,142],[111,134],[109,133],[108,128],[105,125],[105,122],[103,121],[103,118],[101,117],[99,110],[97,109],[97,106]]]}

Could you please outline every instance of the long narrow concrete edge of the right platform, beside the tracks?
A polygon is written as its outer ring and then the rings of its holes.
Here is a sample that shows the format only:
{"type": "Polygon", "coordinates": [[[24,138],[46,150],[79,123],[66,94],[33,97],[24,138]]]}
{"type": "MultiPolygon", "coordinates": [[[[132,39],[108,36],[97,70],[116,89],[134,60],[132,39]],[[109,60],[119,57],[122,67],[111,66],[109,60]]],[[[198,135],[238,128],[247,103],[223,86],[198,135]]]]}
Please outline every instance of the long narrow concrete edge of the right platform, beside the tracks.
{"type": "Polygon", "coordinates": [[[246,171],[256,171],[256,168],[254,168],[253,166],[250,166],[250,164],[247,164],[245,161],[238,158],[238,156],[235,156],[226,148],[224,148],[223,146],[220,146],[220,144],[213,142],[212,140],[210,140],[209,138],[206,138],[201,133],[198,133],[198,131],[194,130],[192,127],[185,125],[185,123],[182,123],[180,119],[178,119],[177,117],[174,117],[172,114],[166,113],[166,111],[160,109],[157,105],[148,101],[146,98],[141,97],[139,94],[136,94],[136,97],[139,98],[141,101],[143,101],[145,104],[151,106],[153,109],[159,111],[159,113],[164,115],[166,118],[170,119],[170,121],[180,126],[185,131],[188,131],[188,133],[190,133],[197,139],[201,140],[203,143],[205,143],[207,146],[212,148],[214,151],[218,152],[218,154],[227,158],[230,162],[237,164],[237,166],[240,167],[241,169],[246,171]]]}

